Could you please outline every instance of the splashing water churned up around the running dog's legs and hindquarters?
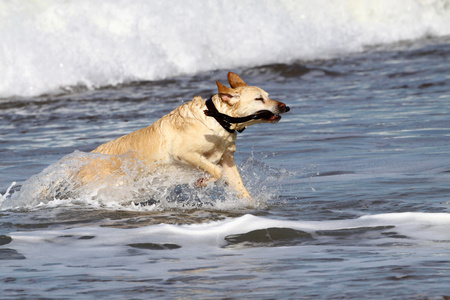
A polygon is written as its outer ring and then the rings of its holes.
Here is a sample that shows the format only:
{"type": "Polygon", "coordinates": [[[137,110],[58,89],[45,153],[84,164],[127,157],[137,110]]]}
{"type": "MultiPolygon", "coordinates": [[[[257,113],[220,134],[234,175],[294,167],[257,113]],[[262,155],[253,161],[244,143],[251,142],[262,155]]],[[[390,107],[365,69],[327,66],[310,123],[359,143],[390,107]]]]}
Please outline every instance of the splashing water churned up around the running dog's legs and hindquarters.
{"type": "Polygon", "coordinates": [[[1,209],[34,209],[77,206],[94,209],[163,211],[163,210],[239,210],[250,206],[264,207],[278,193],[277,184],[286,172],[270,167],[253,156],[240,167],[254,203],[239,198],[223,181],[195,187],[204,174],[178,167],[176,172],[164,170],[142,172],[143,165],[124,163],[120,175],[80,185],[76,174],[93,160],[111,157],[75,151],[25,181],[20,190],[10,195],[12,186],[2,196],[1,209]],[[144,175],[142,175],[144,174],[144,175]]]}

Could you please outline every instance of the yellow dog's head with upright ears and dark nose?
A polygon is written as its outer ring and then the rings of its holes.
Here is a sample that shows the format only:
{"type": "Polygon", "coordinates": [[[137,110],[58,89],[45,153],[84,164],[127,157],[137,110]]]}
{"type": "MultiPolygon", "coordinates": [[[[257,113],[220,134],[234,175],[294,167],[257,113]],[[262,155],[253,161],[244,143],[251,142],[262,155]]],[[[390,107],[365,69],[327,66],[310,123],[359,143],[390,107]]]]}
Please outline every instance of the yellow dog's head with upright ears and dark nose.
{"type": "Polygon", "coordinates": [[[269,94],[263,89],[248,86],[235,73],[228,73],[228,82],[231,88],[218,81],[216,84],[219,97],[230,106],[233,117],[246,117],[254,114],[262,116],[259,119],[245,122],[245,127],[263,122],[277,123],[281,119],[280,114],[290,110],[283,102],[270,99],[269,94]]]}

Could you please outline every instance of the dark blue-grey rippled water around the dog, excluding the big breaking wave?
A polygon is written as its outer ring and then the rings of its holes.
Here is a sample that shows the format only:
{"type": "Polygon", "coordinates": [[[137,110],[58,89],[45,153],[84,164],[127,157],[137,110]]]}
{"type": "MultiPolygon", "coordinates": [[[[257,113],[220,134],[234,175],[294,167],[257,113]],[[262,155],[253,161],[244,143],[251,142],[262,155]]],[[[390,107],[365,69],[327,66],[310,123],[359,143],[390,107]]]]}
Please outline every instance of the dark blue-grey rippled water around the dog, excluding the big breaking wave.
{"type": "Polygon", "coordinates": [[[252,209],[220,183],[145,186],[167,199],[151,207],[37,194],[229,70],[0,100],[2,297],[447,299],[448,57],[440,38],[231,70],[291,107],[238,137],[252,209]]]}

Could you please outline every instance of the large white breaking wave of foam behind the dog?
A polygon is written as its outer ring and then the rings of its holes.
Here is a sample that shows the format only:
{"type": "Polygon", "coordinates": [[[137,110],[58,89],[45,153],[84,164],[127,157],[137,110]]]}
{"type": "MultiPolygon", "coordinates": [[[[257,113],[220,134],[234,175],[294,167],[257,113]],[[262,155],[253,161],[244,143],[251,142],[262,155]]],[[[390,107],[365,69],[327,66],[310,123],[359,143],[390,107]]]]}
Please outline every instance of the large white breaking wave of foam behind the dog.
{"type": "Polygon", "coordinates": [[[0,97],[328,58],[449,34],[449,0],[2,1],[0,97]]]}

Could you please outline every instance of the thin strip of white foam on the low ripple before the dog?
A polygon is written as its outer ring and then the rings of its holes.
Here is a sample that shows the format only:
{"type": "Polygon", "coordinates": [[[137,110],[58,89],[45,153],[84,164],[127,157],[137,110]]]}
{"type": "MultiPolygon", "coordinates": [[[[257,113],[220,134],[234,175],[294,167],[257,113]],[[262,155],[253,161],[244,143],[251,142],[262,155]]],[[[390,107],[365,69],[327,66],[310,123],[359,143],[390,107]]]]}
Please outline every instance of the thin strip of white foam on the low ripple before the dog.
{"type": "MultiPolygon", "coordinates": [[[[291,228],[310,233],[314,238],[320,239],[321,237],[316,232],[387,226],[389,226],[387,230],[395,231],[396,234],[403,235],[404,240],[419,245],[426,245],[428,242],[447,243],[450,241],[448,232],[450,214],[448,213],[391,213],[333,221],[287,221],[244,215],[224,221],[193,225],[159,224],[135,229],[77,227],[63,230],[15,232],[11,236],[14,240],[13,246],[21,251],[26,251],[26,249],[21,249],[21,245],[24,245],[24,248],[29,248],[30,243],[41,244],[43,247],[46,247],[46,244],[49,243],[52,245],[51,247],[55,247],[60,236],[73,236],[75,238],[93,236],[95,239],[83,242],[83,247],[88,247],[91,250],[108,245],[175,241],[182,247],[204,249],[204,247],[223,246],[225,244],[224,239],[228,235],[242,234],[259,229],[291,228]]],[[[386,240],[388,239],[386,238],[386,240]]],[[[386,240],[381,235],[373,242],[376,245],[386,240]]],[[[64,242],[66,243],[66,241],[64,242]]],[[[369,242],[369,240],[366,242],[369,242]]],[[[61,244],[61,246],[64,245],[61,244]]]]}

